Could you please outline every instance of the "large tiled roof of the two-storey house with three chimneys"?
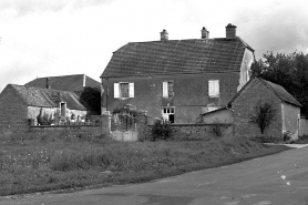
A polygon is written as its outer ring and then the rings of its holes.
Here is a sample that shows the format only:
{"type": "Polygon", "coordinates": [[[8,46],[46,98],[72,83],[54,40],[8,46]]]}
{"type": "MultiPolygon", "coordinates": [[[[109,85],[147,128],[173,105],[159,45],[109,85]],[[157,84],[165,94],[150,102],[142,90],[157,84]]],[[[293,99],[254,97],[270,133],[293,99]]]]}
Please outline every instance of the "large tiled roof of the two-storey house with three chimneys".
{"type": "Polygon", "coordinates": [[[245,48],[240,38],[132,42],[113,53],[103,76],[239,72],[245,48]]]}

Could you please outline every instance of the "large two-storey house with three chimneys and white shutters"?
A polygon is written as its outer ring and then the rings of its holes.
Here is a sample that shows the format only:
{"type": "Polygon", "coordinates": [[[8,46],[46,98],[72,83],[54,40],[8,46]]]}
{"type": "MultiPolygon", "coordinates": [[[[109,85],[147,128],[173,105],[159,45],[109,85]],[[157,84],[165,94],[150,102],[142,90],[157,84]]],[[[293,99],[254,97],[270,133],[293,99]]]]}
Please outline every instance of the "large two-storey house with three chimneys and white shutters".
{"type": "Polygon", "coordinates": [[[102,112],[124,104],[172,123],[195,123],[202,113],[225,107],[249,81],[254,50],[226,27],[226,38],[131,42],[115,52],[102,80],[102,112]]]}

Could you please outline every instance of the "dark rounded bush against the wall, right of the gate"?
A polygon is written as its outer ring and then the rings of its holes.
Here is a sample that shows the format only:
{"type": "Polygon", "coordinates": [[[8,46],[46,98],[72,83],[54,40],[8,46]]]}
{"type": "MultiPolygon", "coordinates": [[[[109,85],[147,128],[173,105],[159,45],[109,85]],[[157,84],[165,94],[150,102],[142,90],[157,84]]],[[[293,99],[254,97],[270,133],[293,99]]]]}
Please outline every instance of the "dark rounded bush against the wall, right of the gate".
{"type": "Polygon", "coordinates": [[[168,140],[172,136],[170,122],[163,119],[156,120],[152,126],[152,140],[168,140]]]}

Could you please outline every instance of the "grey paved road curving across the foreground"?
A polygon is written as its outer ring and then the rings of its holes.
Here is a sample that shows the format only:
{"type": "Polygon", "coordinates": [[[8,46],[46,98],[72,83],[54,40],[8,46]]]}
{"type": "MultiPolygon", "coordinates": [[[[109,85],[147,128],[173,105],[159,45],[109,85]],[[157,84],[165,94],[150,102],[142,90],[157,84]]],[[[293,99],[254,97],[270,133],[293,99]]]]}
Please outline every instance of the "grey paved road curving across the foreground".
{"type": "Polygon", "coordinates": [[[69,194],[0,197],[38,205],[308,205],[308,146],[152,183],[69,194]]]}

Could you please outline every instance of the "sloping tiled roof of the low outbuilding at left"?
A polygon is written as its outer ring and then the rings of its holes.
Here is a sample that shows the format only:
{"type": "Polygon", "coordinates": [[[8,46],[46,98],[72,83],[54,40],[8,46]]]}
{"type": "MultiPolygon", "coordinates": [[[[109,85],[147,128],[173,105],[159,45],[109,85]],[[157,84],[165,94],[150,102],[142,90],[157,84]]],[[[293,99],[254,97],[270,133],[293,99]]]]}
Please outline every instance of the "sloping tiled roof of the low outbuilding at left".
{"type": "Polygon", "coordinates": [[[22,85],[8,84],[29,105],[39,107],[59,107],[61,101],[66,102],[70,110],[86,111],[78,95],[69,91],[53,89],[27,88],[22,85]]]}

